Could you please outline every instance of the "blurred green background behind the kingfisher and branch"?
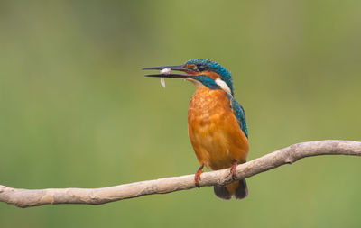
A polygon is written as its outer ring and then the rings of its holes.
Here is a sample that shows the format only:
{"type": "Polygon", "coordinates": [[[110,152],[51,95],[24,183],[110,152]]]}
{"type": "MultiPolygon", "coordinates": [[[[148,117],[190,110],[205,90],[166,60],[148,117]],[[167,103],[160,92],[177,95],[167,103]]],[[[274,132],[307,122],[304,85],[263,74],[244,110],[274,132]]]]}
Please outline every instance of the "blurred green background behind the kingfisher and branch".
{"type": "MultiPolygon", "coordinates": [[[[232,71],[253,160],[301,141],[360,141],[361,2],[0,2],[0,184],[107,187],[195,173],[195,88],[141,68],[232,71]]],[[[106,205],[0,204],[0,227],[359,227],[360,159],[322,156],[212,187],[106,205]]]]}

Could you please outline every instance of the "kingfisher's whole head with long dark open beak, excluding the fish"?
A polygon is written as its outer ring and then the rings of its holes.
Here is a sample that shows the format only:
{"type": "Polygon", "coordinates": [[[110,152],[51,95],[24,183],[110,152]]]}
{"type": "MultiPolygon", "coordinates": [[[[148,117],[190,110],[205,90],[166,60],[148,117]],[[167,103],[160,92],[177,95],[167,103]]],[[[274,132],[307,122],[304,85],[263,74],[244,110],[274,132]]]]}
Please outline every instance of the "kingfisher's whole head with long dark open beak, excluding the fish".
{"type": "Polygon", "coordinates": [[[149,77],[184,78],[211,89],[223,89],[233,96],[231,72],[217,62],[208,59],[191,59],[180,66],[161,66],[143,69],[164,69],[183,71],[186,74],[155,74],[149,77]]]}

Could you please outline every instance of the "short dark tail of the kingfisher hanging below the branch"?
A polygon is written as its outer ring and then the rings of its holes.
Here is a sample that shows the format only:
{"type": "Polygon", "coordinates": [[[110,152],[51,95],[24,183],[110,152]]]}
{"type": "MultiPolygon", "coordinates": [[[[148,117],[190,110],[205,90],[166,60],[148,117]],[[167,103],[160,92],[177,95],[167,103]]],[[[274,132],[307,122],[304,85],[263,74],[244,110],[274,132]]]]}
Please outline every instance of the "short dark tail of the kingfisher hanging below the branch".
{"type": "Polygon", "coordinates": [[[245,179],[237,180],[227,186],[215,186],[214,192],[222,199],[230,199],[232,196],[243,199],[248,195],[247,183],[245,179]]]}

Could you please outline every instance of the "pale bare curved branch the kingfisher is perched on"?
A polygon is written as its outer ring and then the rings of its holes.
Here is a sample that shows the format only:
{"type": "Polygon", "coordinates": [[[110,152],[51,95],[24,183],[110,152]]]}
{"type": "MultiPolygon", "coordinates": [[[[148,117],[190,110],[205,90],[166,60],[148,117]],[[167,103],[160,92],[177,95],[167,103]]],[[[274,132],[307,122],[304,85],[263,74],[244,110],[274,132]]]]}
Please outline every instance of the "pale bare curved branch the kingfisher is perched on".
{"type": "MultiPolygon", "coordinates": [[[[319,155],[361,156],[361,141],[307,141],[251,160],[236,168],[236,179],[249,178],[284,164],[319,155]]],[[[226,185],[234,181],[229,169],[205,172],[199,187],[226,185]]],[[[160,178],[114,187],[20,189],[0,185],[0,202],[19,207],[49,204],[101,205],[139,196],[165,194],[194,188],[194,175],[160,178]]]]}

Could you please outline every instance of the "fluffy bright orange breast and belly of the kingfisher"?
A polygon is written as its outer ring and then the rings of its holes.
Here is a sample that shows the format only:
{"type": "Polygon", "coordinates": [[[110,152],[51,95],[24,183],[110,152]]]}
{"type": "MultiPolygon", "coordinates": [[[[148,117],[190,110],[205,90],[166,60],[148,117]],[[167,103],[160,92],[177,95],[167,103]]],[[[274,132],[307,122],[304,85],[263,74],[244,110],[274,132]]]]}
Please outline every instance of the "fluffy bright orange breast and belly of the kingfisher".
{"type": "Polygon", "coordinates": [[[199,163],[210,169],[225,169],[243,163],[248,140],[239,127],[223,90],[199,87],[188,111],[190,142],[199,163]]]}

